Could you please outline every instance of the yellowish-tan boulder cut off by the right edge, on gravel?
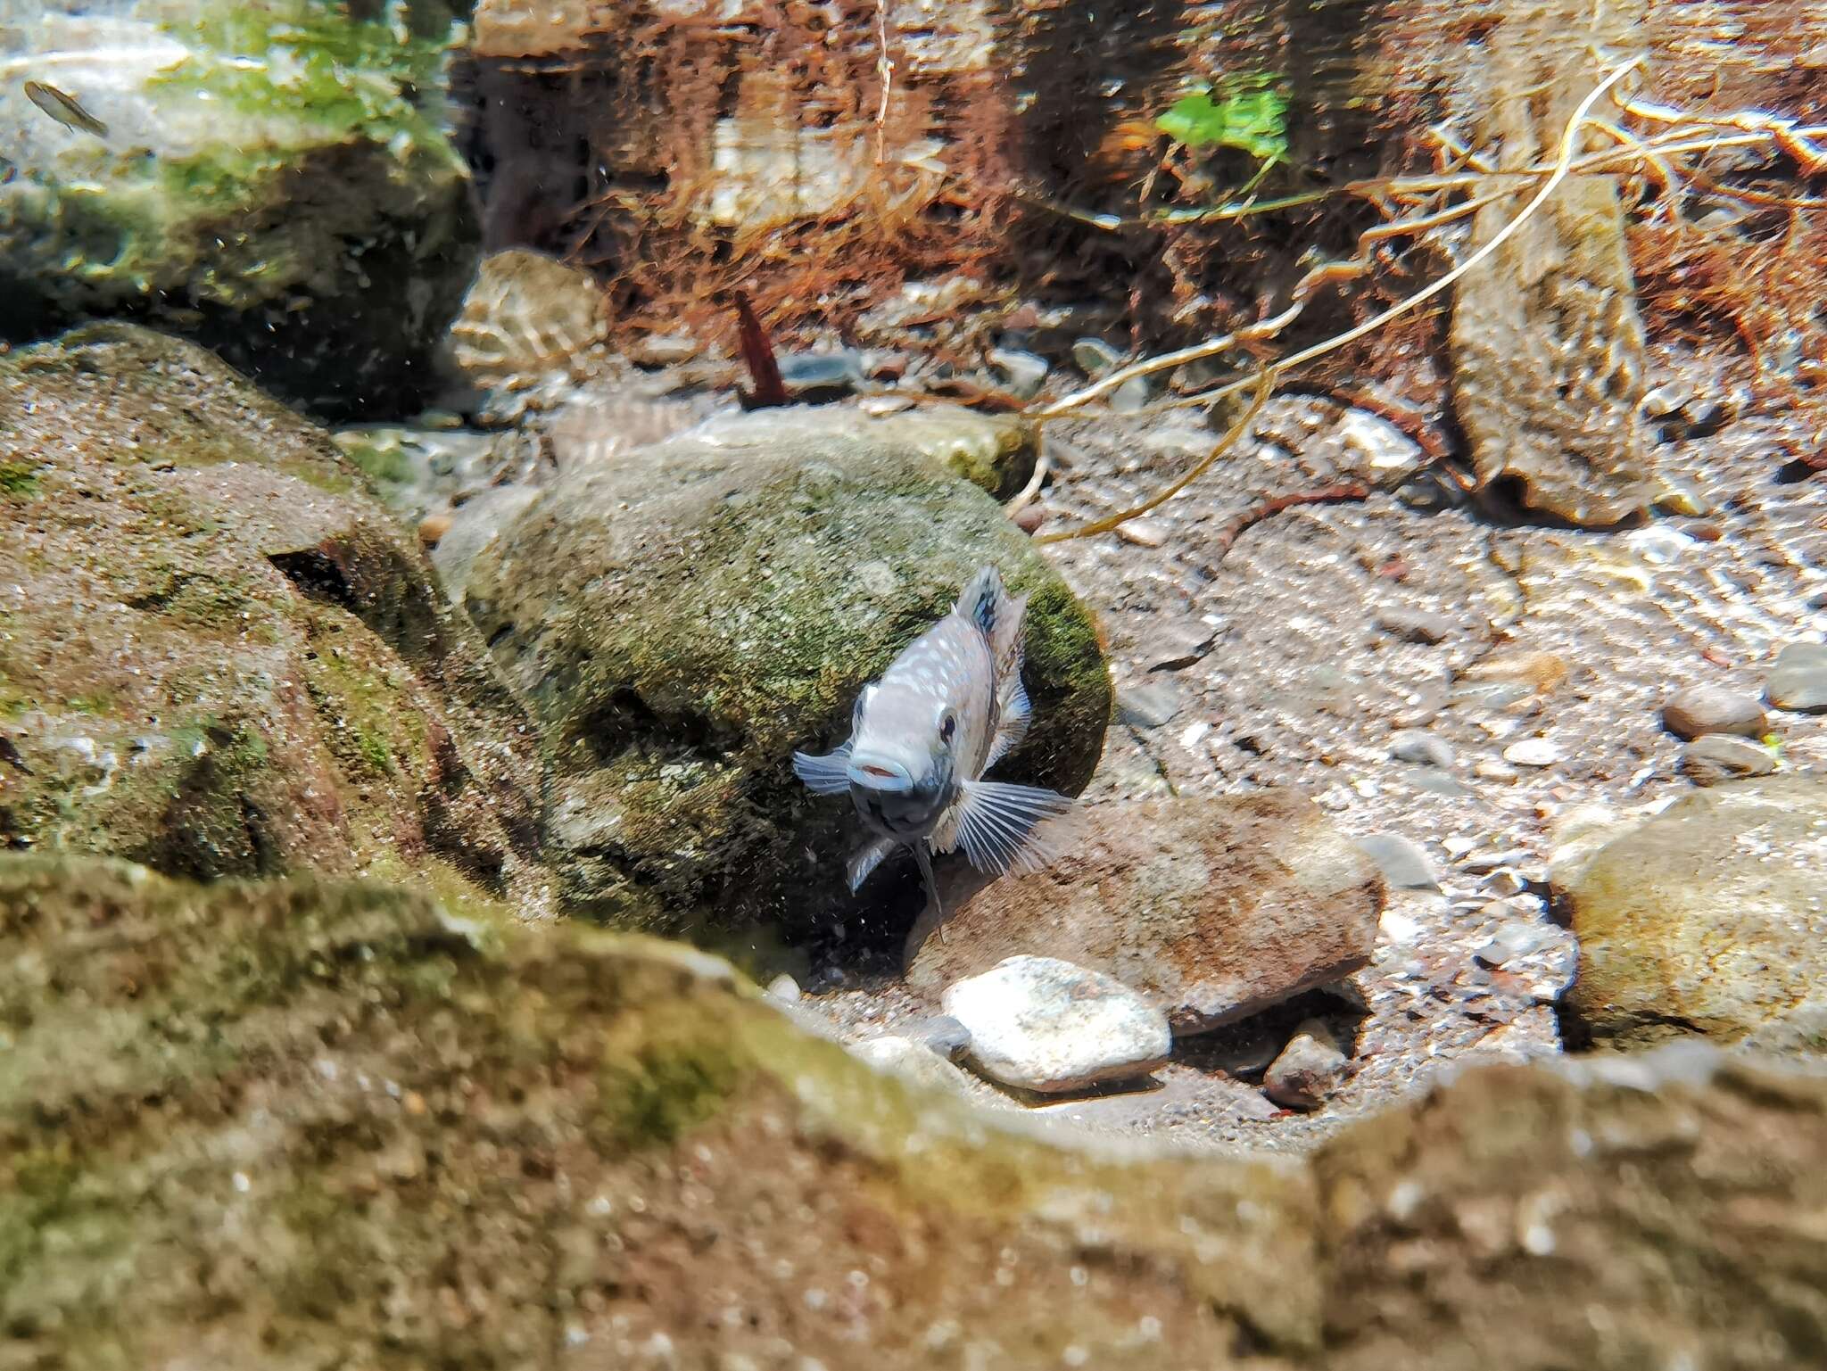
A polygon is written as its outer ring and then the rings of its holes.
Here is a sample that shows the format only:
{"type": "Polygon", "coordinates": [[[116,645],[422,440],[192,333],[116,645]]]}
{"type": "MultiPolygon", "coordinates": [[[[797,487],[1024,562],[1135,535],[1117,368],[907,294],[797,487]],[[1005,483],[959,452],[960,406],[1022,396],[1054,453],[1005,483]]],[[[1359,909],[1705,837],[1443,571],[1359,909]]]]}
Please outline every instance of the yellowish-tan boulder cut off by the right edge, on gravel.
{"type": "Polygon", "coordinates": [[[1827,985],[1827,777],[1714,786],[1580,846],[1553,872],[1577,1040],[1732,1040],[1827,985]]]}

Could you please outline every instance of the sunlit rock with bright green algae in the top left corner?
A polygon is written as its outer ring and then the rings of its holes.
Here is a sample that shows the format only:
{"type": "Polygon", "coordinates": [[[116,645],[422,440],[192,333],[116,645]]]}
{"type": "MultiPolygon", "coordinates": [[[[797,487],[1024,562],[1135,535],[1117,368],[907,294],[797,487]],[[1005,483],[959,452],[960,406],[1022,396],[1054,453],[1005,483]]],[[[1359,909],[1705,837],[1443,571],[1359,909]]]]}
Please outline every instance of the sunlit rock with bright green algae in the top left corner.
{"type": "Polygon", "coordinates": [[[477,258],[468,170],[442,132],[448,11],[168,13],[46,15],[31,31],[27,75],[53,73],[108,132],[0,102],[16,163],[0,336],[133,316],[325,417],[417,409],[477,258]]]}

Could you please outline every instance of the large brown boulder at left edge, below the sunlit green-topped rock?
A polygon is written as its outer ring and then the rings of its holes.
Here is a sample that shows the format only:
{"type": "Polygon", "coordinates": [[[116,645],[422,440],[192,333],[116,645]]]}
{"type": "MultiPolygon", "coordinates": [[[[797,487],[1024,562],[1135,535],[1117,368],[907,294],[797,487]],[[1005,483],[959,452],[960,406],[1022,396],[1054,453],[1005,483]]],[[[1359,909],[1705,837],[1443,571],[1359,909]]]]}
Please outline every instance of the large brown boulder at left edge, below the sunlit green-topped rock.
{"type": "Polygon", "coordinates": [[[320,430],[119,324],[0,391],[0,845],[537,903],[526,717],[320,430]]]}

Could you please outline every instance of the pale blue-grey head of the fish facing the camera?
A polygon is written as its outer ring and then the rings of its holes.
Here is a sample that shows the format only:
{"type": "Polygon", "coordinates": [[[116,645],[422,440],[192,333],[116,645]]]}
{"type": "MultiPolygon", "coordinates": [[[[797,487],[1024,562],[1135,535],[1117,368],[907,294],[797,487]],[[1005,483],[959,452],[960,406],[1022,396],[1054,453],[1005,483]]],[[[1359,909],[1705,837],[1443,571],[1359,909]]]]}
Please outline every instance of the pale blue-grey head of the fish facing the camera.
{"type": "Polygon", "coordinates": [[[850,799],[864,823],[899,839],[924,837],[957,799],[957,709],[932,689],[895,680],[857,696],[850,799]]]}

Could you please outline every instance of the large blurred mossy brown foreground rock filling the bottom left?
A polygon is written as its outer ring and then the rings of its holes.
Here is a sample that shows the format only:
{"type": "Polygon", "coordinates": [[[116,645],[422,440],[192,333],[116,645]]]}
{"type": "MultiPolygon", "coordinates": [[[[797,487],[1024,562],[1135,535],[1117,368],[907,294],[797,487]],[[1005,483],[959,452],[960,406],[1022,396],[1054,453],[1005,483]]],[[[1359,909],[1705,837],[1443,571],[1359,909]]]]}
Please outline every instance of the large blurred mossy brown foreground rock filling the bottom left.
{"type": "Polygon", "coordinates": [[[1317,1336],[1297,1170],[999,1132],[638,936],[0,856],[0,1040],[18,1366],[1153,1371],[1317,1336]]]}

